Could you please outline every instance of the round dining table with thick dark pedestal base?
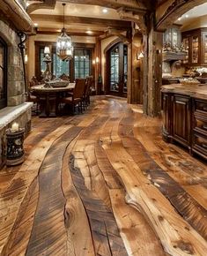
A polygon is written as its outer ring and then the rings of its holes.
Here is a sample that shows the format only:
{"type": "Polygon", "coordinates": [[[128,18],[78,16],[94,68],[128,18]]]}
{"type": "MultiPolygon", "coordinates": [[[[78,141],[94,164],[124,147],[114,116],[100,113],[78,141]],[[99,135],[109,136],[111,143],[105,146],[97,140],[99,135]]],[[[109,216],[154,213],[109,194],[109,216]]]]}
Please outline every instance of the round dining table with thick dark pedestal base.
{"type": "MultiPolygon", "coordinates": [[[[61,85],[61,84],[60,84],[61,85]]],[[[66,83],[66,86],[55,87],[54,83],[47,83],[31,88],[32,93],[37,97],[40,104],[39,117],[56,117],[60,98],[72,92],[75,83],[66,83]]]]}

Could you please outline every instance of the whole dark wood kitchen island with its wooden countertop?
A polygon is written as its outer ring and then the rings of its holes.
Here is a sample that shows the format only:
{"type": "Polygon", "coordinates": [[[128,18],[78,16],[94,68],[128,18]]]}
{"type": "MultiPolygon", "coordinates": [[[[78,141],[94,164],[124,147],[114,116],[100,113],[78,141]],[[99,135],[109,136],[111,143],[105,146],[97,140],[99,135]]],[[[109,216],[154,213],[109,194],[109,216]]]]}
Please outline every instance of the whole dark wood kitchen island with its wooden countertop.
{"type": "Polygon", "coordinates": [[[207,160],[207,85],[163,86],[163,139],[207,160]]]}

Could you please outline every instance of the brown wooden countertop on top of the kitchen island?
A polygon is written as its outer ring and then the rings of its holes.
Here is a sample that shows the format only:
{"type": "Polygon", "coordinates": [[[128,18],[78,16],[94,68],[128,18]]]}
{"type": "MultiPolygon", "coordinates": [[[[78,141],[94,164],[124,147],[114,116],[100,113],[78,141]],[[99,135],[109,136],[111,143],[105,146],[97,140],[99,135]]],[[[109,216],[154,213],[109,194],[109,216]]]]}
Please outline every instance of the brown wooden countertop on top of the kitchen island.
{"type": "Polygon", "coordinates": [[[164,93],[174,93],[189,95],[191,97],[207,100],[207,85],[182,85],[182,84],[172,84],[167,86],[162,86],[161,91],[164,93]]]}

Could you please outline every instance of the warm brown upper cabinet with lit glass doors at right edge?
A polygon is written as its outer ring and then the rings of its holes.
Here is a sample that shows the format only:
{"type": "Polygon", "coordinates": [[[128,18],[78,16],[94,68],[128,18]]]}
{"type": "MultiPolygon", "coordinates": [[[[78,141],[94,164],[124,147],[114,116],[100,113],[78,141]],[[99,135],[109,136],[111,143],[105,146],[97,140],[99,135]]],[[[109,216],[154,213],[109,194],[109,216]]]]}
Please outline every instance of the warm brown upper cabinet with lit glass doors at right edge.
{"type": "Polygon", "coordinates": [[[183,32],[182,43],[187,50],[184,60],[189,65],[207,65],[207,28],[183,32]]]}

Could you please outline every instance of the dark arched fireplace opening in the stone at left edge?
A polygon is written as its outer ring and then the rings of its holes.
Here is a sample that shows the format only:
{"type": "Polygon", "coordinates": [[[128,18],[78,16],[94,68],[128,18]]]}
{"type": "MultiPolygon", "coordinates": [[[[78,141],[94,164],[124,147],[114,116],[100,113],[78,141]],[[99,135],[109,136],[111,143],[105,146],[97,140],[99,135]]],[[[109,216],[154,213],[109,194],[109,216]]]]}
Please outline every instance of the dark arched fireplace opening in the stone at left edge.
{"type": "Polygon", "coordinates": [[[6,53],[7,47],[5,42],[0,38],[0,109],[6,107],[7,93],[6,93],[6,53]]]}

